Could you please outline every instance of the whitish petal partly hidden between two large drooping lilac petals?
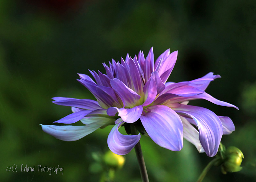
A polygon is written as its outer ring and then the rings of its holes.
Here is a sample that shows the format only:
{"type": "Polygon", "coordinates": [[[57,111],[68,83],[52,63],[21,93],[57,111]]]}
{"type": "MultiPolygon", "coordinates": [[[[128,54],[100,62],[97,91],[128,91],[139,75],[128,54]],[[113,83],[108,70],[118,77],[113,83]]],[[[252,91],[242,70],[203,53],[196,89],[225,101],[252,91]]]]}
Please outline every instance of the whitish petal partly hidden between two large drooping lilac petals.
{"type": "Polygon", "coordinates": [[[204,152],[204,149],[199,141],[199,132],[193,127],[185,117],[180,116],[183,124],[183,137],[193,145],[195,145],[198,152],[204,152]]]}

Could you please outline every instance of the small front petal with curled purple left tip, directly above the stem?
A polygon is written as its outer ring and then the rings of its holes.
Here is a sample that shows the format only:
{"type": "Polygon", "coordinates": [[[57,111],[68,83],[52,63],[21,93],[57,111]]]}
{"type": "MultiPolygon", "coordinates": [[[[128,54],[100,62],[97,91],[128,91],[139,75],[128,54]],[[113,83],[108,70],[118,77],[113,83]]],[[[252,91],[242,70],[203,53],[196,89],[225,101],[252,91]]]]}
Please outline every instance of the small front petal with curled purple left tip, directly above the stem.
{"type": "Polygon", "coordinates": [[[117,108],[117,107],[109,107],[107,110],[107,114],[109,116],[115,116],[118,112],[118,116],[122,118],[122,120],[126,123],[134,123],[137,121],[142,113],[142,106],[135,106],[133,108],[117,108]]]}

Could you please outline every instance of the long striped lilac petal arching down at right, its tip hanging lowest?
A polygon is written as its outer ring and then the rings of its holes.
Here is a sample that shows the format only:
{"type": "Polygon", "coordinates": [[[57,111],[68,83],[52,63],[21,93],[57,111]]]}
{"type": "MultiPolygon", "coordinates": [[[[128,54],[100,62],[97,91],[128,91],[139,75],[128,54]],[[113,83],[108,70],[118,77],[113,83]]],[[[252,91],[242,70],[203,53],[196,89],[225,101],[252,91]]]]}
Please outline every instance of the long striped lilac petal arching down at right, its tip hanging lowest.
{"type": "Polygon", "coordinates": [[[194,119],[198,130],[199,140],[207,156],[215,156],[218,152],[223,127],[218,116],[212,111],[197,106],[180,105],[173,110],[194,119]]]}

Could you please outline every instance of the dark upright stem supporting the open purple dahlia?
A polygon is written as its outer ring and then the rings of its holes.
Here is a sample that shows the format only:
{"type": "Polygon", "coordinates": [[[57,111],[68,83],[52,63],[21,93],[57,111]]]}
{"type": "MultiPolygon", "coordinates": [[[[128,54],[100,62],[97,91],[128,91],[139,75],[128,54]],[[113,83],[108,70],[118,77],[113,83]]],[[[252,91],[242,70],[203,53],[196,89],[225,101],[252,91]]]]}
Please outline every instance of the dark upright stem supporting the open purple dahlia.
{"type": "MultiPolygon", "coordinates": [[[[138,135],[136,127],[133,124],[130,124],[130,127],[131,127],[131,134],[138,135]]],[[[140,175],[141,175],[142,182],[149,182],[148,173],[147,173],[146,165],[144,162],[144,158],[143,158],[142,150],[140,146],[140,141],[135,145],[134,149],[135,149],[136,157],[140,167],[140,175]]]]}

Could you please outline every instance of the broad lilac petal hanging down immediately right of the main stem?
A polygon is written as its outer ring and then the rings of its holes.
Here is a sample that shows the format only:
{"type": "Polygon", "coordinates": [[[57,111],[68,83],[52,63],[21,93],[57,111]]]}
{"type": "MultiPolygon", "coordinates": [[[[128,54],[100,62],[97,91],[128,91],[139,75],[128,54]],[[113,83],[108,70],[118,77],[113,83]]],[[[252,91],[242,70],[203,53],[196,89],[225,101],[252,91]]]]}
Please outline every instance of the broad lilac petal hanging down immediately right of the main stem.
{"type": "Polygon", "coordinates": [[[183,126],[180,117],[171,108],[163,105],[149,106],[141,123],[150,138],[161,147],[180,151],[183,147],[183,126]]]}

